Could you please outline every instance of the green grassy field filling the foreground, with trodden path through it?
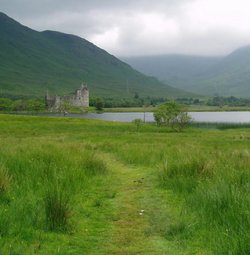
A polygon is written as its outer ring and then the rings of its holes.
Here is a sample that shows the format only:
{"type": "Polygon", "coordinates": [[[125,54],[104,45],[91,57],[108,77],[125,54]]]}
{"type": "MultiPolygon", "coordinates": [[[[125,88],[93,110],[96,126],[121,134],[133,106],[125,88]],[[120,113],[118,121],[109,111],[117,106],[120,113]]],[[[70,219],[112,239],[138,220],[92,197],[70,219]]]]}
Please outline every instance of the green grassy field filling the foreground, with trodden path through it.
{"type": "Polygon", "coordinates": [[[250,132],[0,115],[0,254],[250,254],[250,132]]]}

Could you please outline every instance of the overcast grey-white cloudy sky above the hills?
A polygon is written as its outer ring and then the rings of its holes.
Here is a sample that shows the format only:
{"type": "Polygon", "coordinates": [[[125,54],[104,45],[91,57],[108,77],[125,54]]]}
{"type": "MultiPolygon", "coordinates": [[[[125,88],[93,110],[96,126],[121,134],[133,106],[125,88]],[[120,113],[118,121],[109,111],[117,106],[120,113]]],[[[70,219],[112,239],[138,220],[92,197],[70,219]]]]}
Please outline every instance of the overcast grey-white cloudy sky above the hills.
{"type": "Polygon", "coordinates": [[[250,0],[0,0],[0,10],[116,56],[225,55],[250,45],[250,0]]]}

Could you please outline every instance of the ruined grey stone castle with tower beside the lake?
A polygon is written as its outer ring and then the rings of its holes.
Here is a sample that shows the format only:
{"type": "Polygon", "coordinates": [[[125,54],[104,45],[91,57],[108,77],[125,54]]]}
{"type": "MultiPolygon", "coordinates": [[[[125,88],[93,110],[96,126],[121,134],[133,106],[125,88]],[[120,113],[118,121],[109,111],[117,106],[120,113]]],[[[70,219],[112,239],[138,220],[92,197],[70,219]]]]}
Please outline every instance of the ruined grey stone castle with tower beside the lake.
{"type": "Polygon", "coordinates": [[[86,84],[75,90],[72,96],[50,96],[47,92],[45,103],[50,110],[64,110],[65,105],[87,108],[89,107],[89,90],[86,84]]]}

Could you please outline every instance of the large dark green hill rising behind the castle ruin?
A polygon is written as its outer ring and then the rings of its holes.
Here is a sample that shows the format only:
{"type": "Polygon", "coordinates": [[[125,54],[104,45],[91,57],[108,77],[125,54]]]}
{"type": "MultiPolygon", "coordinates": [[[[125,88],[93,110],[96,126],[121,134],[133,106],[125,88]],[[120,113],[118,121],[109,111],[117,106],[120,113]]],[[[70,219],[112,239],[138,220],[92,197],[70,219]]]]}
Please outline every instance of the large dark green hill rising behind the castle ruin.
{"type": "Polygon", "coordinates": [[[0,93],[68,94],[87,82],[91,96],[190,95],[131,68],[80,37],[37,32],[0,13],[0,93]]]}

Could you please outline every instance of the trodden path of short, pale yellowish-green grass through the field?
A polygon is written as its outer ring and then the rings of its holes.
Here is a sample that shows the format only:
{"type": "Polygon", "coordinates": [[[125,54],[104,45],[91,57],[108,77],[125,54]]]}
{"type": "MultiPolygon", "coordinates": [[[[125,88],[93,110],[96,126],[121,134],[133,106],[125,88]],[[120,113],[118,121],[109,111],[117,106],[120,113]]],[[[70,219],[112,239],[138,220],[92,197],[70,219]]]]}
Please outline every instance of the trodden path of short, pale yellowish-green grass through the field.
{"type": "Polygon", "coordinates": [[[101,254],[171,254],[167,252],[169,247],[164,238],[147,233],[152,228],[152,210],[164,204],[160,193],[158,197],[152,194],[154,182],[150,171],[111,158],[109,165],[118,180],[115,184],[117,195],[113,200],[117,215],[109,242],[101,254]]]}

